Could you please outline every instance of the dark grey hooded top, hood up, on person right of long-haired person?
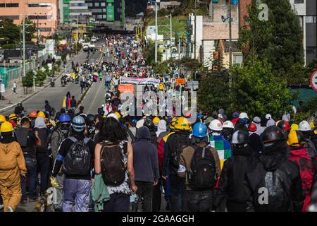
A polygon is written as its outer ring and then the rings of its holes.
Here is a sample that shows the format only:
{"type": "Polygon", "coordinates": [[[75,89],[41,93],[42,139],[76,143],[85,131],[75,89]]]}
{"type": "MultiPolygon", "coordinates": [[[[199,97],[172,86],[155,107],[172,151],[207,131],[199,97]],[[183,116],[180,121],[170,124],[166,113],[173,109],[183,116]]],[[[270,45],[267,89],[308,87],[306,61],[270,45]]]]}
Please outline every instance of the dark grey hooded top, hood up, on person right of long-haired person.
{"type": "Polygon", "coordinates": [[[149,129],[142,126],[137,130],[139,140],[132,144],[135,181],[154,182],[159,180],[157,148],[151,143],[149,129]]]}

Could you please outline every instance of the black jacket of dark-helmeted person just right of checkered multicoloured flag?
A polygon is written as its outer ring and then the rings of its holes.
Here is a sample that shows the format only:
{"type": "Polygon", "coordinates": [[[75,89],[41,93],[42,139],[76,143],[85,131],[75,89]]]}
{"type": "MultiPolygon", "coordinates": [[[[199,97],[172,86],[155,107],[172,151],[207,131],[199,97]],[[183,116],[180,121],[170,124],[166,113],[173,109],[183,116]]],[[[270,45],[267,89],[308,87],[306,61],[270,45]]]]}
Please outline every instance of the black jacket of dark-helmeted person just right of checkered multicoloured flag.
{"type": "MultiPolygon", "coordinates": [[[[254,150],[248,145],[232,151],[232,157],[225,160],[216,190],[215,206],[220,206],[223,198],[227,203],[246,204],[244,177],[247,169],[254,163],[254,150]]],[[[241,210],[243,211],[243,210],[241,210]]]]}

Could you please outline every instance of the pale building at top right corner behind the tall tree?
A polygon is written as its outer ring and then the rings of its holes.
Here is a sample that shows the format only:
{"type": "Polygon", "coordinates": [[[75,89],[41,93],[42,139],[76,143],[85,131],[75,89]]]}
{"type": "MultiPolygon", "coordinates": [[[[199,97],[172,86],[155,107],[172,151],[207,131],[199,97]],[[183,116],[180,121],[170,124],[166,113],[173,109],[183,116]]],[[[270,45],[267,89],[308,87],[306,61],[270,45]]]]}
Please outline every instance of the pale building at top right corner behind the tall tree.
{"type": "Polygon", "coordinates": [[[317,1],[290,0],[292,8],[297,11],[303,30],[305,63],[317,58],[317,1]]]}

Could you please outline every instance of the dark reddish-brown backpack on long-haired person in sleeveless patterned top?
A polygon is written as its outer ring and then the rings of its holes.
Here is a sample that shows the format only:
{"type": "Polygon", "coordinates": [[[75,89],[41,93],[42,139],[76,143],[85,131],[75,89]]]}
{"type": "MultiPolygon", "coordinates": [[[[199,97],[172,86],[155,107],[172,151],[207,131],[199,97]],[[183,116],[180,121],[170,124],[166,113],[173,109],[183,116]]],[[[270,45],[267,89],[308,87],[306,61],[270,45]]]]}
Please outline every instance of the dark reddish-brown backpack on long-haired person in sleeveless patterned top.
{"type": "Polygon", "coordinates": [[[128,143],[123,145],[123,153],[119,145],[113,143],[101,143],[100,163],[104,184],[108,186],[120,186],[125,181],[126,166],[123,154],[128,152],[128,143]]]}

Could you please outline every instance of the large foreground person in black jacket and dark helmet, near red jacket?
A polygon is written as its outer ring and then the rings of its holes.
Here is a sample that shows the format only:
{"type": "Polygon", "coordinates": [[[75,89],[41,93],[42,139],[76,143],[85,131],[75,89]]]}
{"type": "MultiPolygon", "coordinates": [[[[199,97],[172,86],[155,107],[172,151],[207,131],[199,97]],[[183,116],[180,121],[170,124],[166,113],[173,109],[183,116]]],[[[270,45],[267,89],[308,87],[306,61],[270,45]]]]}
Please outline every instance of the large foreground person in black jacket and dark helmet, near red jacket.
{"type": "Polygon", "coordinates": [[[299,167],[287,159],[287,143],[282,130],[269,126],[261,140],[264,150],[247,171],[247,212],[300,212],[304,192],[299,167]]]}

